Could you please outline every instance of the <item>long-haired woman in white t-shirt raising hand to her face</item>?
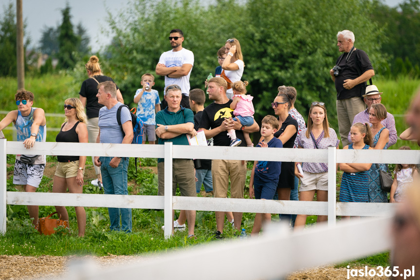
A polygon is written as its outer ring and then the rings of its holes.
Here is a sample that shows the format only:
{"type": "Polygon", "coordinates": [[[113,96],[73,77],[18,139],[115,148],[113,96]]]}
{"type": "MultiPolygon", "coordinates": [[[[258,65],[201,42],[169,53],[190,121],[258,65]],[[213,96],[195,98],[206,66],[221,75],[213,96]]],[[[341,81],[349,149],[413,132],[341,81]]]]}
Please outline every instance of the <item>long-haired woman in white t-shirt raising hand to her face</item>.
{"type": "Polygon", "coordinates": [[[240,81],[245,64],[243,62],[242,51],[237,38],[227,39],[225,43],[226,58],[223,60],[221,68],[223,69],[220,77],[227,82],[226,96],[232,100],[232,83],[240,81]]]}

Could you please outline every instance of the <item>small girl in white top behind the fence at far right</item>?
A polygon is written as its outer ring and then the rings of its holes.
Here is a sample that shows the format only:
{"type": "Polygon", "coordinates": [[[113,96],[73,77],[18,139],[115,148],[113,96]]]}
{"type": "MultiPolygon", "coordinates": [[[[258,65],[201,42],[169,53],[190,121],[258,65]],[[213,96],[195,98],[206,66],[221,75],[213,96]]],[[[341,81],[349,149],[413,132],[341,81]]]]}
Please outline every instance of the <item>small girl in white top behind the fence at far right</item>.
{"type": "MultiPolygon", "coordinates": [[[[402,150],[411,150],[410,147],[402,146],[402,150]]],[[[413,183],[413,177],[419,176],[419,171],[414,164],[396,164],[394,169],[394,182],[391,186],[389,202],[402,202],[407,187],[413,183]]]]}

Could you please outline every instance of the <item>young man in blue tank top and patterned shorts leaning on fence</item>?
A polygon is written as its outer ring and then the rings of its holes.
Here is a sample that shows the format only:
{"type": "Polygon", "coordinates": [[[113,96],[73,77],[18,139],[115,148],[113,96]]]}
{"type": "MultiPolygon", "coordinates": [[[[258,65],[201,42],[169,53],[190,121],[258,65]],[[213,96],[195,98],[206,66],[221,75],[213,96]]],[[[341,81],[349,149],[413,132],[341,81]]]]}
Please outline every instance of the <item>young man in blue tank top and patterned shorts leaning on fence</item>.
{"type": "MultiPolygon", "coordinates": [[[[0,131],[13,122],[17,130],[18,141],[23,142],[26,149],[34,147],[35,142],[45,142],[47,135],[44,110],[33,108],[34,94],[24,89],[15,94],[18,110],[9,112],[0,122],[0,131]]],[[[16,155],[13,184],[25,186],[25,191],[36,192],[41,183],[45,168],[45,155],[39,155],[34,164],[26,164],[16,155]]],[[[29,157],[33,157],[32,155],[29,157]]],[[[28,205],[29,216],[32,223],[38,224],[38,206],[28,205]]]]}

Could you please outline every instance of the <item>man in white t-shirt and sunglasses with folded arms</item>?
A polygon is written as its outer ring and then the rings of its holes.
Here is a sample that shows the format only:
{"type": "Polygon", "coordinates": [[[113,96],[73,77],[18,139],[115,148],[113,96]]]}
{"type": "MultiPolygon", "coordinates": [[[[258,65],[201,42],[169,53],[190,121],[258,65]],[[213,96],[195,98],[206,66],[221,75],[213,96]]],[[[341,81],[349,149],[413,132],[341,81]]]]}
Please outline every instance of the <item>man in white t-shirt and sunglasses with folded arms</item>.
{"type": "MultiPolygon", "coordinates": [[[[184,35],[181,29],[172,29],[169,34],[172,50],[164,52],[156,65],[156,74],[165,76],[165,90],[168,85],[177,84],[181,87],[183,108],[190,108],[190,75],[194,65],[193,52],[183,48],[184,35]]],[[[162,109],[167,103],[162,100],[162,109]]]]}

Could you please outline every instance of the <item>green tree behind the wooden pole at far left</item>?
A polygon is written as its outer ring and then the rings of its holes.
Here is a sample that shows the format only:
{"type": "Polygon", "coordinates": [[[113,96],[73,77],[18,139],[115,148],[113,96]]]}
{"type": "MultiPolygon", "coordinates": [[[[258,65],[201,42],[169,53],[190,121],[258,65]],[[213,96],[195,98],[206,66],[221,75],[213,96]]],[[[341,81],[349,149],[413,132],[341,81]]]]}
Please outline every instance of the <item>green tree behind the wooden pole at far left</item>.
{"type": "MultiPolygon", "coordinates": [[[[4,14],[0,16],[0,76],[16,76],[16,9],[12,2],[3,5],[4,14]]],[[[23,26],[25,34],[26,25],[23,26]]],[[[29,39],[24,42],[24,49],[29,39]]],[[[26,59],[25,59],[26,66],[26,59]]]]}

